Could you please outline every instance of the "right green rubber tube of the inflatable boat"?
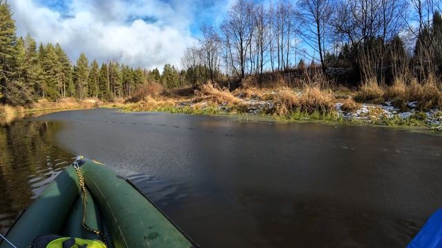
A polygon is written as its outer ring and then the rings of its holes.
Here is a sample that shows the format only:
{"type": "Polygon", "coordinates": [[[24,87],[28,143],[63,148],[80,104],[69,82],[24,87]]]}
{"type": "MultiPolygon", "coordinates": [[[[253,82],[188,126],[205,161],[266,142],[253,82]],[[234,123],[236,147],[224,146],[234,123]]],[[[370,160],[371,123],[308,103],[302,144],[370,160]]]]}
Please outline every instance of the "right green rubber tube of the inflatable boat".
{"type": "Polygon", "coordinates": [[[193,247],[191,242],[140,192],[105,165],[86,160],[86,185],[119,247],[193,247]]]}

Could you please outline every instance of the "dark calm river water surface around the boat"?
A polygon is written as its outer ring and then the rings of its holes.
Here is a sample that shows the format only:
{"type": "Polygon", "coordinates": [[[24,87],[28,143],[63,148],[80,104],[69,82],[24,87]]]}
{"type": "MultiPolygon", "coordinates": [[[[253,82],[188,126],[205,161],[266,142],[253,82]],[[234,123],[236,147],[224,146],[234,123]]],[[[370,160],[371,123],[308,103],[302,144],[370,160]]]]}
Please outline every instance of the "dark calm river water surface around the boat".
{"type": "Polygon", "coordinates": [[[3,229],[70,154],[126,171],[202,247],[404,247],[442,207],[441,136],[104,109],[35,120],[0,129],[3,229]]]}

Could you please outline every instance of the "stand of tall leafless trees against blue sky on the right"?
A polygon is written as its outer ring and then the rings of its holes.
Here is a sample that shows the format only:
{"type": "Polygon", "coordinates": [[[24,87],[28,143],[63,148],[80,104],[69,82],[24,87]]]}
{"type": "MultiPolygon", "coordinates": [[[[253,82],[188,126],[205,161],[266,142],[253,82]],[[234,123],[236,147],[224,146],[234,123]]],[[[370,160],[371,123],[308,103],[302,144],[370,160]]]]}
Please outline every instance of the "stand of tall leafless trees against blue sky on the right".
{"type": "Polygon", "coordinates": [[[260,81],[309,66],[328,76],[348,69],[358,82],[405,72],[422,79],[441,74],[441,8],[441,0],[238,0],[220,25],[202,26],[182,65],[193,84],[206,80],[202,69],[211,81],[260,81]]]}

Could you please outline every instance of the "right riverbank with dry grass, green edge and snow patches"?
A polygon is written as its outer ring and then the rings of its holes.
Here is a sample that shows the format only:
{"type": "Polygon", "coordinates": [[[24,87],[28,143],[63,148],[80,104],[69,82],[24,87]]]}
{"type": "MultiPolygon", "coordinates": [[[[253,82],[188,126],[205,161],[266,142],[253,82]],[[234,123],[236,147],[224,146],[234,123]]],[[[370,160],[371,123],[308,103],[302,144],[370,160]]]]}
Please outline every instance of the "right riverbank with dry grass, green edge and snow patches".
{"type": "MultiPolygon", "coordinates": [[[[157,111],[184,114],[245,114],[272,116],[280,121],[334,121],[362,122],[376,125],[427,127],[442,131],[442,111],[429,105],[427,96],[421,101],[407,101],[393,94],[398,85],[379,93],[381,88],[365,85],[358,91],[347,88],[325,89],[320,86],[302,88],[256,87],[233,92],[203,85],[199,90],[169,91],[163,94],[146,94],[138,101],[114,104],[124,111],[157,111]],[[375,92],[375,91],[378,92],[375,92]],[[390,94],[383,99],[384,94],[390,94]],[[366,103],[356,100],[363,99],[366,103]]],[[[407,87],[404,88],[407,90],[407,87]]],[[[404,91],[405,91],[404,90],[404,91]]],[[[416,90],[416,89],[415,89],[416,90]]],[[[416,93],[415,93],[416,94],[416,93]]],[[[439,97],[439,96],[436,96],[439,97]]],[[[439,101],[439,99],[436,99],[439,101]]],[[[431,99],[430,101],[433,101],[431,99]]],[[[439,104],[439,103],[437,103],[439,104]]]]}

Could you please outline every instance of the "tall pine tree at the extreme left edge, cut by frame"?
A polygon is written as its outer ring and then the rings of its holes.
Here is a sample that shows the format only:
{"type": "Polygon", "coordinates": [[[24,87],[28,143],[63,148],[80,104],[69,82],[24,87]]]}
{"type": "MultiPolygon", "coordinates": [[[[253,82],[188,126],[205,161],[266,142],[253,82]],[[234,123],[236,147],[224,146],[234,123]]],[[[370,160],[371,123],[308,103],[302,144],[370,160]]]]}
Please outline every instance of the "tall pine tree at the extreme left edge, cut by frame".
{"type": "Polygon", "coordinates": [[[0,0],[0,99],[15,104],[17,89],[12,82],[15,72],[15,21],[8,2],[0,0]]]}

